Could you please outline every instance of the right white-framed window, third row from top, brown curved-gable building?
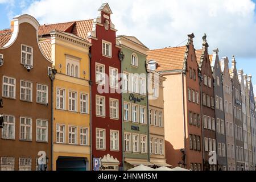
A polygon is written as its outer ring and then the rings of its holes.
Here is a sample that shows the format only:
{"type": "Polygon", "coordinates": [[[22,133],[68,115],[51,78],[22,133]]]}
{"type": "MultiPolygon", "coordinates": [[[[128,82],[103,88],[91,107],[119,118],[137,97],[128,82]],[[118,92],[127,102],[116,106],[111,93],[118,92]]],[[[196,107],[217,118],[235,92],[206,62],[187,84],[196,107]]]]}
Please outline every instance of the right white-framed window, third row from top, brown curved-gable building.
{"type": "Polygon", "coordinates": [[[48,142],[48,121],[36,119],[36,141],[48,142]]]}

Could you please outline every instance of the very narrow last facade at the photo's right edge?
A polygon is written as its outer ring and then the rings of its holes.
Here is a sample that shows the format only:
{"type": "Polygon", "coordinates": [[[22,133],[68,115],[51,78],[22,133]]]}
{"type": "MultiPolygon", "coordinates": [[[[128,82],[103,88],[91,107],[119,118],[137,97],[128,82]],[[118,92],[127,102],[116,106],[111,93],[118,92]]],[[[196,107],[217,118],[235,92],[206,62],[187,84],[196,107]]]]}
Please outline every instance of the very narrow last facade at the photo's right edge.
{"type": "Polygon", "coordinates": [[[253,158],[253,170],[256,171],[256,119],[255,119],[255,100],[254,100],[254,92],[253,92],[253,81],[252,76],[249,75],[249,99],[250,99],[250,121],[251,121],[251,151],[253,158]]]}

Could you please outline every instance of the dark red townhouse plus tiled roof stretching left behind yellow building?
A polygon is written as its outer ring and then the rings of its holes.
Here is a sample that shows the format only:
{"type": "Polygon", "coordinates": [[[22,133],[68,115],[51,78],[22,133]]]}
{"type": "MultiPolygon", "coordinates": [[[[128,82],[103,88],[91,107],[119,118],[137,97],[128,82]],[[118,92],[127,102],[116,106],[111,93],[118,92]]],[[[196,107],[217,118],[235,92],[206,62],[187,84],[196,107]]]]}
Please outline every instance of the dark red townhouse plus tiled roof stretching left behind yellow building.
{"type": "MultiPolygon", "coordinates": [[[[39,38],[49,38],[57,30],[79,36],[92,43],[90,50],[91,81],[91,146],[93,158],[101,158],[102,170],[118,170],[122,161],[122,97],[118,90],[121,73],[119,52],[112,11],[101,5],[96,19],[44,24],[39,38]],[[110,76],[111,75],[111,76],[110,76]]],[[[93,162],[92,162],[93,165],[93,162]]],[[[93,169],[94,166],[92,166],[93,169]]]]}

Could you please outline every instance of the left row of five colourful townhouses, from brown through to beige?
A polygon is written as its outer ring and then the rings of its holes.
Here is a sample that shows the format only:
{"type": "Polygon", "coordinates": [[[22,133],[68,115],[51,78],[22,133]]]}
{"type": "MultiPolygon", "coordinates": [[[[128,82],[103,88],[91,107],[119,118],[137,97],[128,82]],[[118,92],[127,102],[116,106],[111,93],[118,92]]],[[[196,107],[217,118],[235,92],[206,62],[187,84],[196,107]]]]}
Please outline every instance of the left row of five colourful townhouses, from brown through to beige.
{"type": "Polygon", "coordinates": [[[166,78],[143,43],[116,36],[111,14],[104,3],[96,19],[43,26],[20,15],[0,31],[0,170],[171,166],[166,78]]]}

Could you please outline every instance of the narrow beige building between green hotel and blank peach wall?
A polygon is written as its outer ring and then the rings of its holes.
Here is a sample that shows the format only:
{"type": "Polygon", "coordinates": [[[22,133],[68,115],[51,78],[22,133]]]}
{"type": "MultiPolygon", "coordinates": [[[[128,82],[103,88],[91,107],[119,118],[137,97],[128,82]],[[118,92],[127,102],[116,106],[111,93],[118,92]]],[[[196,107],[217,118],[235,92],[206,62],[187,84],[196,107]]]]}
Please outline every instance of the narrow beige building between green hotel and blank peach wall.
{"type": "MultiPolygon", "coordinates": [[[[156,63],[151,63],[156,64],[156,63]]],[[[149,64],[149,65],[151,65],[149,64]]],[[[160,73],[148,70],[150,88],[156,88],[156,92],[148,93],[148,123],[149,123],[149,151],[150,162],[156,167],[171,167],[166,163],[166,152],[164,142],[164,97],[163,97],[163,82],[165,77],[160,73]],[[156,76],[156,77],[155,77],[156,76]],[[158,89],[157,89],[158,88],[158,89]]],[[[149,89],[150,92],[150,89],[149,89]]]]}

